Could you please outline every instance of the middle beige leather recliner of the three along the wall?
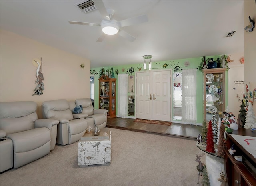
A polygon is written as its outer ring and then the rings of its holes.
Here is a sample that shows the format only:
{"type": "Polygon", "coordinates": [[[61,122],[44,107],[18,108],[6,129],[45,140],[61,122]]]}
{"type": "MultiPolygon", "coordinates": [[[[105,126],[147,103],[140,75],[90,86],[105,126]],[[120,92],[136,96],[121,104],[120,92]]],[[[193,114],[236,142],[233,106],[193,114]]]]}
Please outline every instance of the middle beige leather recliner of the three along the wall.
{"type": "Polygon", "coordinates": [[[57,144],[72,144],[84,135],[88,124],[84,118],[74,118],[67,100],[50,100],[42,104],[44,118],[59,120],[57,144]]]}

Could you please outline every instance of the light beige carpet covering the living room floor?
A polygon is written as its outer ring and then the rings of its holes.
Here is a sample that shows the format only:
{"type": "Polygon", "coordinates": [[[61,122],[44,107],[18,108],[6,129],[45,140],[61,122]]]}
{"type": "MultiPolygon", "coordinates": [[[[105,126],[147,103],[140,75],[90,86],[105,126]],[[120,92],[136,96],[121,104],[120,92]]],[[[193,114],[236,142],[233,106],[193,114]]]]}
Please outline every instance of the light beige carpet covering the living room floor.
{"type": "MultiPolygon", "coordinates": [[[[78,166],[78,142],[0,175],[1,186],[201,186],[195,140],[110,128],[111,164],[78,166]]],[[[205,162],[205,157],[201,158],[205,162]]],[[[217,185],[217,184],[215,184],[217,185]]]]}

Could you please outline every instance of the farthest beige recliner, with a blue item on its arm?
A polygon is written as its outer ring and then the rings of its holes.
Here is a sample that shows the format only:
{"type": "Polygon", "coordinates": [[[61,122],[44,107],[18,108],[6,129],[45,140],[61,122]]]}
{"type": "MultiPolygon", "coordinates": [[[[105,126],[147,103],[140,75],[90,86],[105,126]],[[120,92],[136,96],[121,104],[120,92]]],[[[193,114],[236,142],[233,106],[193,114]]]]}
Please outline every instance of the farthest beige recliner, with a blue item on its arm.
{"type": "Polygon", "coordinates": [[[88,127],[94,128],[95,125],[98,128],[105,128],[107,125],[107,112],[106,109],[94,109],[92,106],[92,100],[90,98],[76,99],[74,101],[68,102],[70,105],[70,110],[72,111],[75,106],[83,106],[82,113],[73,114],[74,118],[85,118],[88,127]]]}

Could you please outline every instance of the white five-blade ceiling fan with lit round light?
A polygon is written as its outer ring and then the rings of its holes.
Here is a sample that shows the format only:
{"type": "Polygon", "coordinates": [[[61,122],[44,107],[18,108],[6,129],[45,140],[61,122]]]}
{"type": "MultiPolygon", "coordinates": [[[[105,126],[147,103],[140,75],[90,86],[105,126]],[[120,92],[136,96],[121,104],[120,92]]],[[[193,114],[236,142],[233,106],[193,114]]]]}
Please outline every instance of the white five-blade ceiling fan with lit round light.
{"type": "Polygon", "coordinates": [[[103,17],[101,24],[78,22],[78,21],[68,21],[68,22],[71,24],[100,26],[102,28],[102,34],[98,38],[97,42],[102,42],[106,36],[105,34],[107,34],[107,35],[119,34],[120,36],[127,39],[128,41],[133,42],[136,38],[134,38],[134,36],[128,34],[127,32],[124,32],[124,30],[121,30],[120,27],[148,22],[147,15],[141,15],[141,16],[137,16],[134,18],[128,18],[128,19],[125,19],[122,21],[117,21],[115,19],[112,19],[112,16],[115,13],[114,10],[106,9],[102,0],[96,0],[96,1],[94,1],[94,4],[96,5],[100,14],[103,17]]]}

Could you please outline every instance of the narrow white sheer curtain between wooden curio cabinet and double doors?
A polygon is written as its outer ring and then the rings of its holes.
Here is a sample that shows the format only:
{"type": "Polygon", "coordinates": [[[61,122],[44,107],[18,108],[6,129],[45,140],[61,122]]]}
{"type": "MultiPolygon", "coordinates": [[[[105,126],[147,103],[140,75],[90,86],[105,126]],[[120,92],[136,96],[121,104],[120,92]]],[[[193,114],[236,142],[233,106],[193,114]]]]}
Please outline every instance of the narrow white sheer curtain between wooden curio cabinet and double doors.
{"type": "Polygon", "coordinates": [[[118,74],[117,117],[128,116],[128,74],[118,74]]]}

